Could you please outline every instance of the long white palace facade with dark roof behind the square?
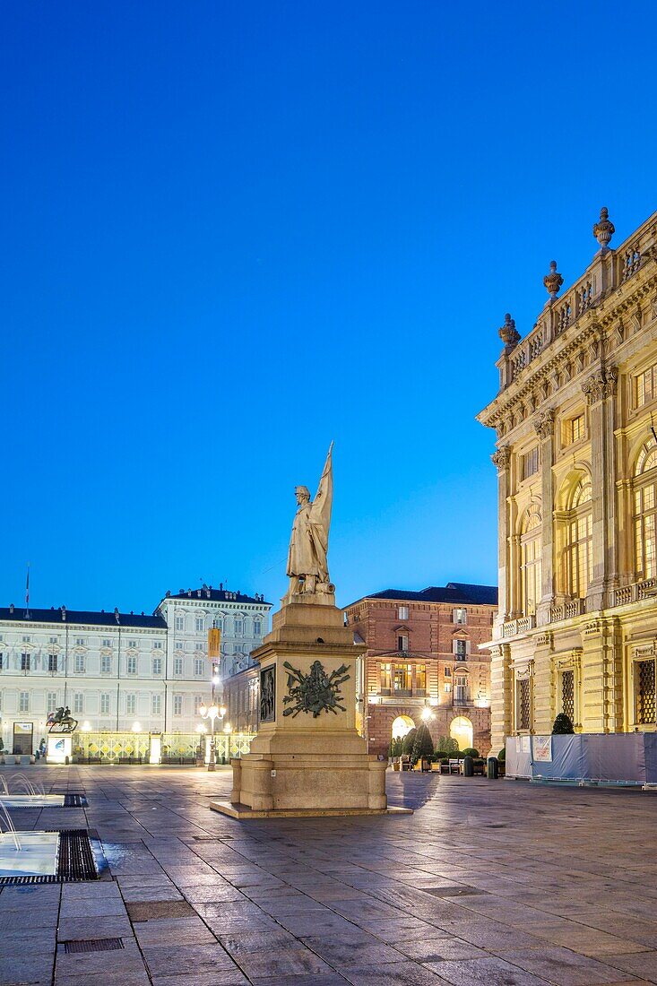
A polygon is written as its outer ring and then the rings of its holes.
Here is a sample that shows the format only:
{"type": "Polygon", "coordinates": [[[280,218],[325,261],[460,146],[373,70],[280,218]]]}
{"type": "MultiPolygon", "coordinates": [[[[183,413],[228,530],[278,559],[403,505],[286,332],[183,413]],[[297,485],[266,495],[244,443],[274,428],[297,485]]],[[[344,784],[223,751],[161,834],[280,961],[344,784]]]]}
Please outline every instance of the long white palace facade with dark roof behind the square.
{"type": "Polygon", "coordinates": [[[152,615],[0,608],[5,750],[33,752],[59,706],[85,733],[193,734],[211,694],[208,630],[222,631],[227,676],[250,664],[270,608],[261,596],[208,586],[167,593],[152,615]]]}

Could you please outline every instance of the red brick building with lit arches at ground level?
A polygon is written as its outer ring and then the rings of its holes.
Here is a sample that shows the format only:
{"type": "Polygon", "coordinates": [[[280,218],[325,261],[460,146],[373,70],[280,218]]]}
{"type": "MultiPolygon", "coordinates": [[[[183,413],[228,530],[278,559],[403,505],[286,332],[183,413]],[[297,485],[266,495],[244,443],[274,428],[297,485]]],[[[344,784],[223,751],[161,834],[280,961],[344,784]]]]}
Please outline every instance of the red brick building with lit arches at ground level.
{"type": "Polygon", "coordinates": [[[367,645],[363,732],[371,753],[427,723],[435,742],[490,749],[490,640],[497,587],[450,582],[422,592],[389,589],[352,602],[345,619],[367,645]]]}

